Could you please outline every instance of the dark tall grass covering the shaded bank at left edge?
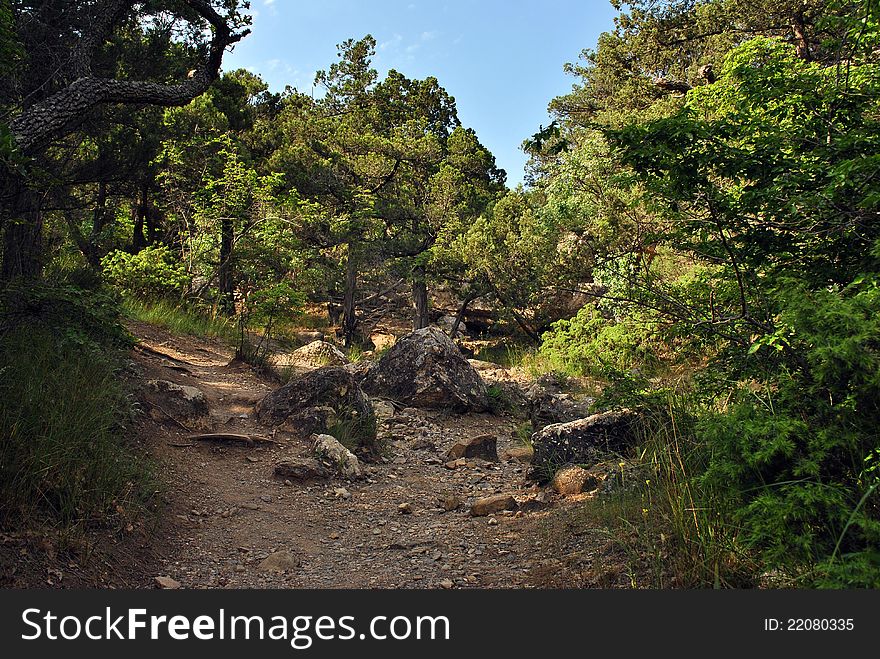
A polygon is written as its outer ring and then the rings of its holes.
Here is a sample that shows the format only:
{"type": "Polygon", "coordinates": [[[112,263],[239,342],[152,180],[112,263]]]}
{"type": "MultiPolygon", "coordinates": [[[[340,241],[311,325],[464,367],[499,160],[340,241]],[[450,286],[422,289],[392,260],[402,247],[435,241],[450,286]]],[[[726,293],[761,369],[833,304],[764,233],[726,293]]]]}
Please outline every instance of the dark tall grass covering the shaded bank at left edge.
{"type": "Polygon", "coordinates": [[[132,405],[112,353],[29,324],[0,336],[0,526],[122,522],[154,491],[125,439],[132,405]]]}

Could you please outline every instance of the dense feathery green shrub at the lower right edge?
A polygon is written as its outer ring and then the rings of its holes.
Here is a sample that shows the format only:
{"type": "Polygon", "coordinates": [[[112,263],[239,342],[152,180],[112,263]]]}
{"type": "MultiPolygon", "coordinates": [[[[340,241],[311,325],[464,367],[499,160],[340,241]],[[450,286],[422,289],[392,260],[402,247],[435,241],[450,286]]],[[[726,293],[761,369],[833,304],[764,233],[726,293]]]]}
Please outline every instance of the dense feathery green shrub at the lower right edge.
{"type": "Polygon", "coordinates": [[[755,342],[777,372],[702,421],[714,451],[702,483],[768,567],[804,585],[880,586],[878,279],[777,296],[781,329],[755,342]]]}

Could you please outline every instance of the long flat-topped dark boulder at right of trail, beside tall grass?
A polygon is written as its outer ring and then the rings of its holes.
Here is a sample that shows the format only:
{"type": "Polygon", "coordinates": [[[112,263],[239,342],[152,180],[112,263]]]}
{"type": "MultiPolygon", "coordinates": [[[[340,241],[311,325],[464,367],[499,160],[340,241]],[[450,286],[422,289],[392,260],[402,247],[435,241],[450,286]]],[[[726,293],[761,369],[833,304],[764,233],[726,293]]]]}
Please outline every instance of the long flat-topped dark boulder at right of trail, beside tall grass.
{"type": "Polygon", "coordinates": [[[547,426],[532,435],[531,478],[547,482],[566,464],[591,466],[609,454],[622,454],[638,439],[641,416],[628,409],[547,426]]]}

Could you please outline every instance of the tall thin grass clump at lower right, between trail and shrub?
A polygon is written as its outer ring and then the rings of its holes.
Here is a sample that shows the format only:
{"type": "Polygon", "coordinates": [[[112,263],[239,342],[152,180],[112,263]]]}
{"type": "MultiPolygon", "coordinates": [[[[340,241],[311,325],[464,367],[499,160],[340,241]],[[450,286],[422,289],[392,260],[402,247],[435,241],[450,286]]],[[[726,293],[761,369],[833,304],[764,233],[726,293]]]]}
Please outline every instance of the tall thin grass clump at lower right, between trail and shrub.
{"type": "Polygon", "coordinates": [[[752,587],[758,568],[738,539],[723,503],[700,484],[709,447],[697,441],[700,409],[670,398],[642,430],[638,481],[588,503],[614,530],[633,586],[752,587]]]}

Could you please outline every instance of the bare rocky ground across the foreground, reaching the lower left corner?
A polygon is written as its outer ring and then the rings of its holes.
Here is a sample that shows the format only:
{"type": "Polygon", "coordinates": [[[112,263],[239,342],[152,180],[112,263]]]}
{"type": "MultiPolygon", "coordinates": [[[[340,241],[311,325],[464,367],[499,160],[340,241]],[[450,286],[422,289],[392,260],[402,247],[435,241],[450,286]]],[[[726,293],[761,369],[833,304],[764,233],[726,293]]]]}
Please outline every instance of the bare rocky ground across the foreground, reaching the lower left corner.
{"type": "MultiPolygon", "coordinates": [[[[521,417],[374,398],[384,451],[362,464],[362,479],[289,479],[275,474],[276,464],[309,456],[312,443],[257,419],[256,403],[280,386],[277,379],[234,361],[219,342],[141,323],[129,329],[139,339],[129,374],[143,411],[137,440],[164,483],[157,521],[89,536],[87,546],[57,555],[45,536],[0,537],[6,585],[629,585],[607,531],[572,522],[591,495],[561,497],[527,481],[521,417]],[[206,433],[224,436],[194,439],[206,433]],[[494,436],[497,460],[448,455],[481,435],[494,436]]],[[[529,386],[521,373],[473,363],[511,395],[529,386]]]]}

